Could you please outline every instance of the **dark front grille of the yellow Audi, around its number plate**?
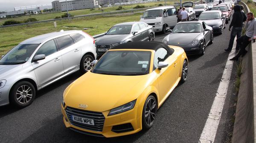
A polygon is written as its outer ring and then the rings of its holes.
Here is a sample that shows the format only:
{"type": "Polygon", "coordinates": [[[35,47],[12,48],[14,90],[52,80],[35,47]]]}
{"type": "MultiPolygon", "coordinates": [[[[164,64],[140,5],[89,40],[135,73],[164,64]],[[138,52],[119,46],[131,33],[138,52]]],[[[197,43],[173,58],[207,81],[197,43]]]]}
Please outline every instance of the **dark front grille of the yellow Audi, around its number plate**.
{"type": "Polygon", "coordinates": [[[86,111],[86,110],[76,109],[76,108],[72,108],[72,107],[67,107],[65,110],[66,110],[67,117],[72,125],[80,127],[82,129],[88,129],[88,130],[102,132],[105,117],[101,112],[86,111]],[[93,119],[94,126],[74,122],[71,120],[71,115],[79,116],[82,118],[93,119]]]}

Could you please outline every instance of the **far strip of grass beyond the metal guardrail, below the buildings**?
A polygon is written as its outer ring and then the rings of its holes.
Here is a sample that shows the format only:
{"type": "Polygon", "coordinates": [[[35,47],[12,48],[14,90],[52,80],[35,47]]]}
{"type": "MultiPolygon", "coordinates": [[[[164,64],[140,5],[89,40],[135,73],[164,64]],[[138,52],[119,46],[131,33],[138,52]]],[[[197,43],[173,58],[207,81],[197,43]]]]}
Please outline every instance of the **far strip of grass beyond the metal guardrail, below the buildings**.
{"type": "MultiPolygon", "coordinates": [[[[166,0],[166,5],[173,5],[174,2],[176,2],[176,1],[177,0],[172,0],[172,1],[167,1],[166,0]]],[[[183,1],[189,1],[189,0],[183,0],[183,1]]],[[[133,5],[125,5],[125,6],[122,6],[124,8],[122,10],[129,10],[129,9],[132,9],[133,7],[135,7],[137,5],[144,5],[146,7],[155,7],[155,6],[158,6],[160,3],[163,4],[163,6],[164,6],[164,1],[157,1],[157,2],[152,2],[152,3],[140,3],[140,4],[133,4],[133,5]]],[[[111,11],[117,11],[116,8],[118,8],[118,6],[106,7],[106,8],[102,8],[102,9],[103,9],[103,12],[111,12],[111,11]]],[[[32,18],[32,17],[36,18],[39,21],[41,21],[41,20],[51,20],[51,19],[54,19],[57,16],[63,15],[64,13],[65,12],[48,13],[48,14],[35,14],[35,15],[27,15],[27,16],[23,16],[23,17],[2,19],[2,20],[0,20],[0,25],[2,25],[3,22],[5,22],[6,20],[23,21],[23,20],[26,20],[26,19],[32,18]]],[[[74,15],[74,16],[79,16],[79,15],[84,15],[84,14],[102,13],[102,10],[99,9],[99,8],[95,8],[95,10],[93,10],[93,11],[90,11],[90,9],[81,9],[81,10],[69,11],[69,13],[74,15]]]]}

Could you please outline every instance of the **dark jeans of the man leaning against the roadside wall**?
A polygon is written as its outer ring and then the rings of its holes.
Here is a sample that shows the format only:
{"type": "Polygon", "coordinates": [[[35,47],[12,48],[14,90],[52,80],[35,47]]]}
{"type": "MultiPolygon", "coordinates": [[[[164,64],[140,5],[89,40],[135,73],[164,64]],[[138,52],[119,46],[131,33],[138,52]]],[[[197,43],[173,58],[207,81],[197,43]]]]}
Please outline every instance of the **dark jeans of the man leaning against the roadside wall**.
{"type": "Polygon", "coordinates": [[[240,46],[240,50],[237,53],[237,55],[235,56],[236,58],[239,58],[239,56],[244,55],[247,51],[245,50],[245,48],[247,47],[247,45],[250,43],[249,39],[251,37],[247,37],[246,35],[241,36],[240,38],[236,39],[236,43],[240,46]]]}

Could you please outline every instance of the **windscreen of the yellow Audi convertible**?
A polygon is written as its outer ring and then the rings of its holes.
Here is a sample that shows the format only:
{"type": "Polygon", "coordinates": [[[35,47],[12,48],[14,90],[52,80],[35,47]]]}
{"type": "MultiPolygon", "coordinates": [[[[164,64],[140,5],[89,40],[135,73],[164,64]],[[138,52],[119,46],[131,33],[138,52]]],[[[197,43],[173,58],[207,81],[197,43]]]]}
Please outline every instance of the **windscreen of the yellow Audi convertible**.
{"type": "Polygon", "coordinates": [[[108,51],[91,72],[119,76],[145,75],[149,73],[150,59],[150,51],[108,51]]]}

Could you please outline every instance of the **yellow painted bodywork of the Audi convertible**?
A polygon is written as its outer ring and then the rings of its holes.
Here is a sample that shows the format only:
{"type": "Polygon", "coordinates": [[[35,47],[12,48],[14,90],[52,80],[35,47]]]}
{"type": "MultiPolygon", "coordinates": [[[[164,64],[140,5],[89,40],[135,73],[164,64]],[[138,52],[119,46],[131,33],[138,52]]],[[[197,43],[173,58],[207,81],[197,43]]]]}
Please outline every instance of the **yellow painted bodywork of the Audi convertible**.
{"type": "Polygon", "coordinates": [[[156,69],[153,71],[155,51],[143,49],[143,51],[151,51],[150,72],[147,75],[113,76],[96,74],[89,71],[70,84],[63,94],[65,108],[67,106],[79,108],[79,104],[86,104],[87,108],[85,110],[102,112],[105,116],[105,123],[102,132],[73,126],[68,121],[64,107],[61,105],[65,126],[67,128],[73,127],[86,132],[102,134],[105,137],[116,137],[139,132],[142,129],[143,106],[148,95],[154,94],[157,96],[157,105],[159,108],[180,81],[182,64],[184,59],[187,59],[186,53],[180,47],[170,47],[173,48],[175,52],[165,60],[169,65],[168,67],[162,68],[162,70],[156,69]],[[137,99],[137,101],[133,109],[108,116],[111,109],[135,99],[137,99]],[[112,126],[123,123],[131,123],[134,131],[124,133],[111,131],[112,126]]]}

